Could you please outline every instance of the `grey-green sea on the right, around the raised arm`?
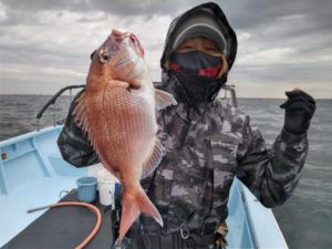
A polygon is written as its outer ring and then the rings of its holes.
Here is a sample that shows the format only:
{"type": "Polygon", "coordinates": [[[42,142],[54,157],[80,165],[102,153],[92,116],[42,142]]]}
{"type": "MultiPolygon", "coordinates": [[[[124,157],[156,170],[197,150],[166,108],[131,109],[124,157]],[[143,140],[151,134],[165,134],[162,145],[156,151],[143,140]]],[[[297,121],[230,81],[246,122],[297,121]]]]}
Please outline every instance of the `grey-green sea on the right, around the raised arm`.
{"type": "MultiPolygon", "coordinates": [[[[240,98],[266,142],[272,145],[282,125],[283,100],[240,98]]],[[[332,248],[332,100],[318,100],[301,179],[288,201],[273,209],[290,249],[332,248]]]]}

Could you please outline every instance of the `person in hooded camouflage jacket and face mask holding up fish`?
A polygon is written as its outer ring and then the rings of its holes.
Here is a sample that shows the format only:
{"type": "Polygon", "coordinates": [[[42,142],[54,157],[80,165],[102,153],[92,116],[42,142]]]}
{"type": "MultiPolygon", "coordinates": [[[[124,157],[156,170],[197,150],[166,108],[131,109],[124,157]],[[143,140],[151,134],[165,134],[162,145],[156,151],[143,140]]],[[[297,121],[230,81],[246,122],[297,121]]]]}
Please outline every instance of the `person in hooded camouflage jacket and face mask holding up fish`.
{"type": "MultiPolygon", "coordinates": [[[[170,23],[162,83],[178,104],[158,113],[166,153],[142,180],[164,227],[143,214],[122,248],[225,248],[227,201],[236,176],[269,208],[282,205],[298,185],[315,102],[301,90],[286,92],[280,106],[284,125],[268,148],[248,115],[217,98],[236,53],[236,33],[217,3],[197,6],[170,23]]],[[[75,124],[73,107],[58,139],[60,151],[77,167],[95,164],[98,158],[75,124]]]]}

